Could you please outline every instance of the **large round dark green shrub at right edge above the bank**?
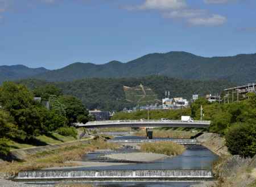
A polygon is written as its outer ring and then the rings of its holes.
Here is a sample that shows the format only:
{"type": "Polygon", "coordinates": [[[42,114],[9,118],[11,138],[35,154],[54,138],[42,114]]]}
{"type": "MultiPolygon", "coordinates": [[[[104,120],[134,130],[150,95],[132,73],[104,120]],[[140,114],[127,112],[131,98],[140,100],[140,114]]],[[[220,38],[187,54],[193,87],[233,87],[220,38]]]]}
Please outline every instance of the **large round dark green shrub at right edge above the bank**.
{"type": "Polygon", "coordinates": [[[256,154],[256,125],[236,124],[225,135],[226,146],[232,155],[253,157],[256,154]]]}

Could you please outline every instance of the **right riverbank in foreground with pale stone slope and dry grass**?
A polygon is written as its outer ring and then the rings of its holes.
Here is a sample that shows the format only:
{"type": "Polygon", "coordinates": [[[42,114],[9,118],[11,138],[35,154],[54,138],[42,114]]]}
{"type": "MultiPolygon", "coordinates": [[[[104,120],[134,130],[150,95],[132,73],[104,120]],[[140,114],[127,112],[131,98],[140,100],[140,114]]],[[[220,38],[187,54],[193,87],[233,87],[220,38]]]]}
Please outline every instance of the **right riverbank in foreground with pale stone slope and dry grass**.
{"type": "MultiPolygon", "coordinates": [[[[204,186],[256,186],[256,156],[254,158],[241,158],[238,155],[231,155],[225,146],[225,138],[215,133],[204,133],[196,138],[201,145],[214,152],[220,159],[213,163],[213,172],[218,181],[204,186]]],[[[202,185],[195,185],[200,187],[202,185]]]]}

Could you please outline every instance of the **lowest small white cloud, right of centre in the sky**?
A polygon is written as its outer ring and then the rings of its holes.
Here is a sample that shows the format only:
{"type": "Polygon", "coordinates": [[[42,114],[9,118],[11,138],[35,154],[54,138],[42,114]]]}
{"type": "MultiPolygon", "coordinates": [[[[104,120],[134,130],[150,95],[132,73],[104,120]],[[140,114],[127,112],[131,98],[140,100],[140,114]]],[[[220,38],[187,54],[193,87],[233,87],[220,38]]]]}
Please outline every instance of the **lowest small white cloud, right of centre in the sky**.
{"type": "Polygon", "coordinates": [[[226,17],[213,14],[212,16],[209,17],[202,17],[202,18],[190,18],[188,19],[188,23],[194,26],[207,26],[207,27],[212,27],[212,26],[218,26],[226,23],[226,17]]]}

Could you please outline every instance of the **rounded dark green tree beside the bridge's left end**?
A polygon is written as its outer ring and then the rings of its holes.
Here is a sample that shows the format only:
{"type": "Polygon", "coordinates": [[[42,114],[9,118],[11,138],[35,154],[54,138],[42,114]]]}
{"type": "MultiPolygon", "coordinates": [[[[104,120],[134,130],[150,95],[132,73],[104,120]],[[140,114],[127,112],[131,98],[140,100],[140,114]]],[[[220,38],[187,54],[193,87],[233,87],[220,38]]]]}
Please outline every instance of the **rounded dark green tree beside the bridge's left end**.
{"type": "Polygon", "coordinates": [[[74,96],[60,96],[59,101],[65,107],[65,113],[68,118],[68,123],[71,125],[74,122],[88,122],[88,111],[82,104],[82,101],[74,96]]]}

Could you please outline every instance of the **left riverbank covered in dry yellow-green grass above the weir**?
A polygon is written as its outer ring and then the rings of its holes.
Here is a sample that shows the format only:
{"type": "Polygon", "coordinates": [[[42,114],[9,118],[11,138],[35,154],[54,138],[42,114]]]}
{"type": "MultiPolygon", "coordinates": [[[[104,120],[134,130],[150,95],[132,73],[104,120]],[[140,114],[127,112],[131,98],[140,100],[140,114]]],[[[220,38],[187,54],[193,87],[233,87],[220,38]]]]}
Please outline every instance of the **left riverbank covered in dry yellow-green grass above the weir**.
{"type": "MultiPolygon", "coordinates": [[[[107,143],[102,138],[86,141],[76,141],[63,143],[61,145],[50,145],[41,147],[39,150],[27,148],[24,150],[30,154],[24,154],[26,157],[22,162],[3,162],[0,164],[0,173],[2,178],[15,176],[20,171],[32,171],[51,167],[73,167],[78,163],[68,162],[69,160],[79,160],[86,152],[92,152],[97,149],[114,149],[118,146],[113,143],[107,143]]],[[[19,153],[20,153],[19,152],[19,153]]],[[[22,156],[24,156],[22,154],[22,156]]]]}

